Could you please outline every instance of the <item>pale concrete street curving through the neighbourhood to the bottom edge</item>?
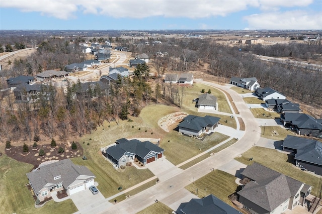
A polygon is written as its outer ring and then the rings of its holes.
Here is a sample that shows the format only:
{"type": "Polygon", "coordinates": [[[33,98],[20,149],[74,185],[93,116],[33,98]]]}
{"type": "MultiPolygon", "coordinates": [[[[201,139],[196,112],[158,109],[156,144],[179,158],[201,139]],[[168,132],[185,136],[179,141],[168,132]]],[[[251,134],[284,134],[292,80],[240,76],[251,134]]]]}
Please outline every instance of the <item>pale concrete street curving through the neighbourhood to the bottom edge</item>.
{"type": "Polygon", "coordinates": [[[216,153],[215,155],[210,156],[198,164],[179,173],[176,171],[174,176],[168,180],[160,181],[156,185],[117,204],[111,205],[111,203],[106,201],[101,203],[99,206],[91,207],[86,210],[87,213],[136,213],[155,203],[154,200],[156,199],[170,207],[178,207],[182,202],[181,198],[185,198],[185,202],[187,202],[189,201],[187,199],[195,197],[193,195],[188,195],[187,197],[187,194],[190,193],[185,191],[185,186],[208,174],[211,172],[210,169],[212,168],[217,169],[223,165],[227,166],[230,163],[234,164],[235,161],[233,161],[233,159],[236,156],[249,150],[254,143],[259,141],[260,127],[239,94],[225,86],[203,80],[197,80],[197,82],[225,90],[231,95],[238,109],[239,115],[243,118],[246,126],[244,136],[242,136],[235,144],[216,153]]]}

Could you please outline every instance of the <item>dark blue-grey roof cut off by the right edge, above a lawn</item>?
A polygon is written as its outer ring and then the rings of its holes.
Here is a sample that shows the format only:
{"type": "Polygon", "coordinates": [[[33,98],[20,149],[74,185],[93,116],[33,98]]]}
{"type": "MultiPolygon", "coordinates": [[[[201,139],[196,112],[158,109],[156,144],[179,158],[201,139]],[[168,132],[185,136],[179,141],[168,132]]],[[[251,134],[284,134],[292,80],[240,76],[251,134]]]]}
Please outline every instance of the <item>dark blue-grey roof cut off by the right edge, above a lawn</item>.
{"type": "Polygon", "coordinates": [[[313,139],[287,135],[282,146],[296,149],[295,159],[322,166],[321,142],[313,139]]]}

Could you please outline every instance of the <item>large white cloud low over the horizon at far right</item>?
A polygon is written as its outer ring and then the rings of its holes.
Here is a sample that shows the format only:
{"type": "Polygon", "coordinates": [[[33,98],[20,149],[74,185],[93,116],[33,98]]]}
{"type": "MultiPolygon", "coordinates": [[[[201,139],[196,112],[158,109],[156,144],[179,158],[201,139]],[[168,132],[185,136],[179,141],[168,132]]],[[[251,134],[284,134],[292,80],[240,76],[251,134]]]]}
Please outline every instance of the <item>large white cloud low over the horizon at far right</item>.
{"type": "Polygon", "coordinates": [[[250,29],[322,29],[322,12],[287,11],[254,14],[244,17],[250,29]]]}

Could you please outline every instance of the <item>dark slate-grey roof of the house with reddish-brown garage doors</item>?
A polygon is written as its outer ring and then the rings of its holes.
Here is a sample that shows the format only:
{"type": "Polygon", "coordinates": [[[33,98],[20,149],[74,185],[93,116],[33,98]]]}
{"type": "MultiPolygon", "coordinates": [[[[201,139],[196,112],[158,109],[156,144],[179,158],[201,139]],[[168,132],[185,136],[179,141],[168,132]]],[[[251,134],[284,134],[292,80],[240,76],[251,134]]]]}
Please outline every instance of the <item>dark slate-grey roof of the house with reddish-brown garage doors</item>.
{"type": "Polygon", "coordinates": [[[151,151],[159,153],[165,150],[149,141],[141,142],[136,139],[116,144],[115,146],[111,146],[105,150],[107,154],[111,155],[116,160],[119,160],[126,152],[144,158],[151,151]]]}

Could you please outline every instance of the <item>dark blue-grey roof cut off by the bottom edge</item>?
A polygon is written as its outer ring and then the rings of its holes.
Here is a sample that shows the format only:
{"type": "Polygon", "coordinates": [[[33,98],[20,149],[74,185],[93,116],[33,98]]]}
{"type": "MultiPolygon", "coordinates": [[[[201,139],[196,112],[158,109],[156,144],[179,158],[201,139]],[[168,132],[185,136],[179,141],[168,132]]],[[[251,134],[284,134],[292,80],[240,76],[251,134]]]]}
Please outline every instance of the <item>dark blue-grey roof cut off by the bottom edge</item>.
{"type": "Polygon", "coordinates": [[[232,208],[224,201],[210,194],[204,198],[191,199],[181,209],[186,214],[237,214],[238,210],[232,208]]]}

